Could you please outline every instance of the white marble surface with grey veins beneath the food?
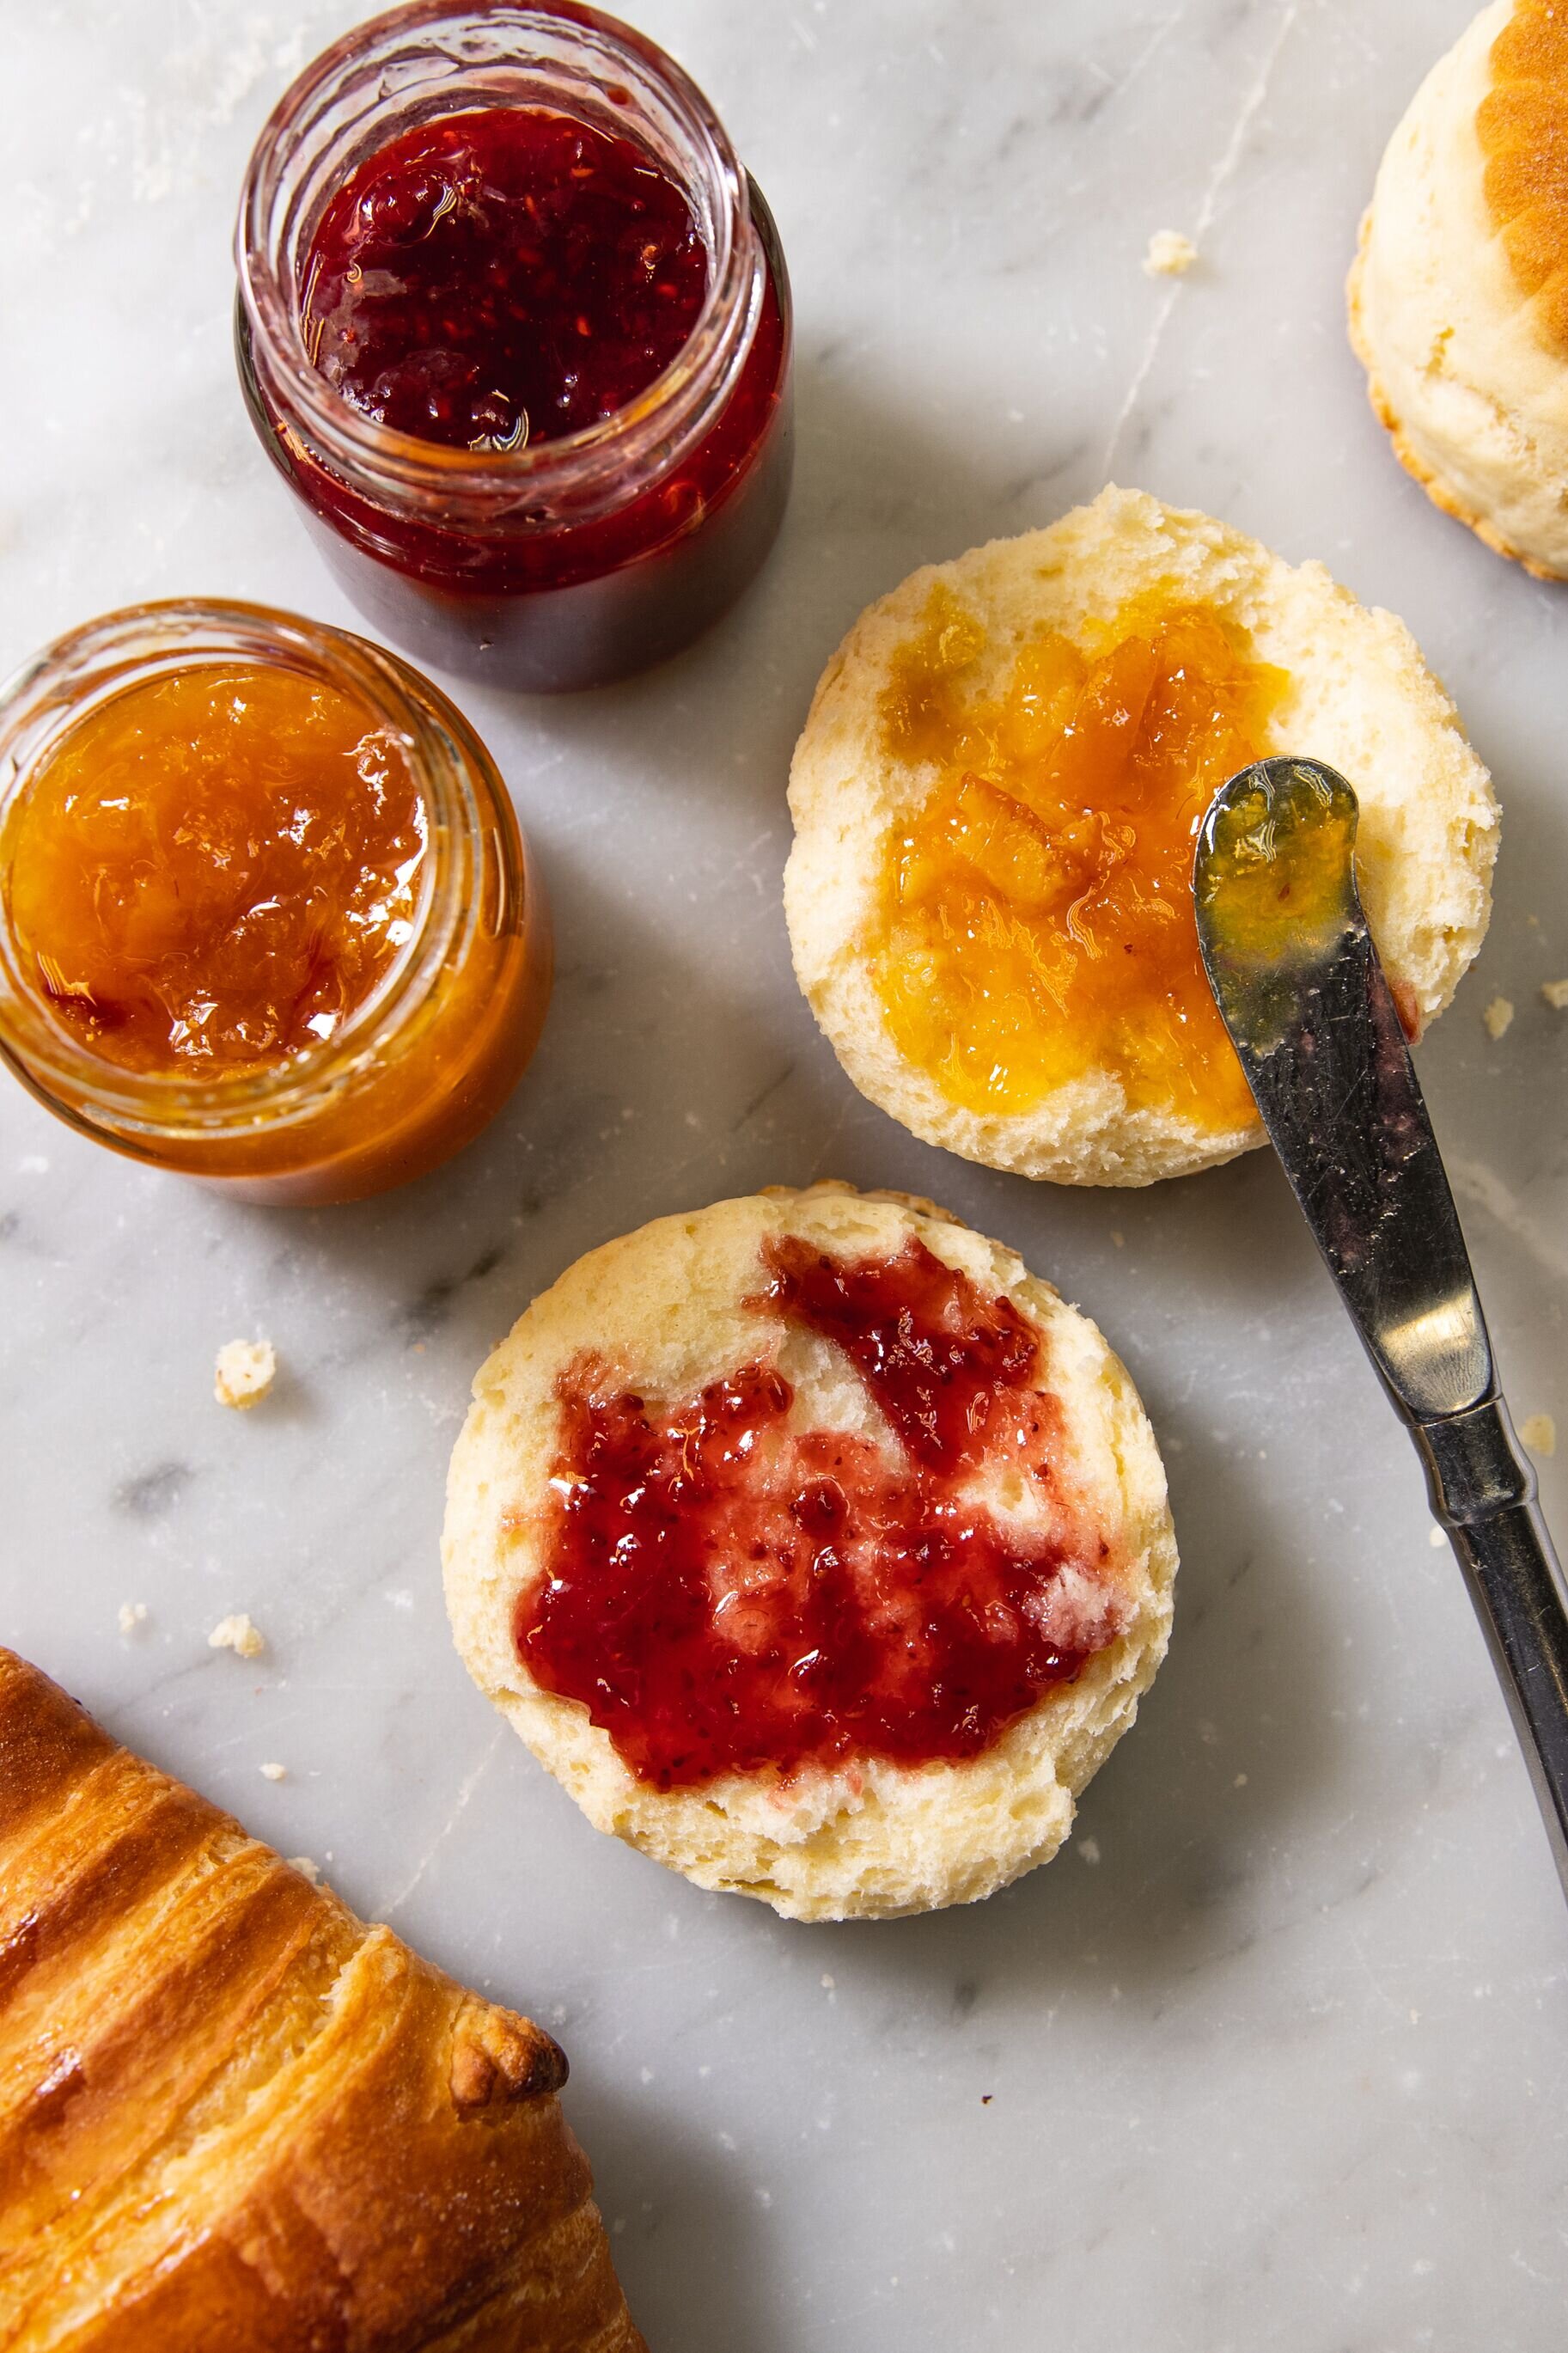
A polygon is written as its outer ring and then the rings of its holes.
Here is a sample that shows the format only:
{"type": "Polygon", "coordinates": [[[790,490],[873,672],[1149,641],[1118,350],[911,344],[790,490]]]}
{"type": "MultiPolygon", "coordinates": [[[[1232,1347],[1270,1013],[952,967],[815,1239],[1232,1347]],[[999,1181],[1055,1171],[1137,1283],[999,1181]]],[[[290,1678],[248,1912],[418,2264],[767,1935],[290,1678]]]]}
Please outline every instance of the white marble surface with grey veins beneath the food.
{"type": "MultiPolygon", "coordinates": [[[[858,607],[1107,473],[1403,612],[1505,800],[1497,915],[1422,1049],[1514,1405],[1563,1384],[1568,591],[1392,464],[1340,280],[1467,0],[637,0],[766,186],[799,301],[764,584],[618,692],[463,692],[562,936],[494,1132],[266,1214],[0,1089],[0,1633],[129,1741],[571,2049],[656,2353],[1556,2353],[1568,1920],[1458,1572],[1274,1165],[992,1176],[842,1080],[778,913],[783,781],[858,607]],[[1140,271],[1187,228],[1187,280],[1140,271]],[[1493,1045],[1481,1007],[1519,1005],[1493,1045]],[[842,1174],[1016,1242],[1121,1346],[1182,1537],[1171,1661],[1079,1838],[976,1911],[783,1927],[599,1840],[470,1689],[437,1581],[487,1344],[663,1209],[842,1174]],[[212,1402],[233,1334],[284,1377],[212,1402]],[[146,1600],[125,1640],[122,1600],[146,1600]],[[268,1654],[207,1649],[249,1609],[268,1654]],[[263,1760],[289,1779],[270,1784],[263,1760]]],[[[0,14],[0,659],[146,595],[353,619],[242,416],[254,129],[355,16],[0,14]]],[[[1563,1461],[1547,1504],[1568,1532],[1563,1461]]]]}

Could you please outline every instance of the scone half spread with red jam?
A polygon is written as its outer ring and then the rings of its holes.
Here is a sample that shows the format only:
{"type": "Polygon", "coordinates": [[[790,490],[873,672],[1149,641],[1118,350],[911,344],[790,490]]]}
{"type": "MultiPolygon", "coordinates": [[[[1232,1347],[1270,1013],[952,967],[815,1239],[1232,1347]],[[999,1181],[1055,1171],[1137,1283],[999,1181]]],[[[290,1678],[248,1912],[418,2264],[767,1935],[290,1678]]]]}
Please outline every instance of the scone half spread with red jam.
{"type": "Polygon", "coordinates": [[[1100,1332],[940,1209],[820,1184],[534,1301],[444,1567],[468,1671],[597,1828],[842,1920],[1056,1854],[1166,1652],[1175,1539],[1100,1332]]]}

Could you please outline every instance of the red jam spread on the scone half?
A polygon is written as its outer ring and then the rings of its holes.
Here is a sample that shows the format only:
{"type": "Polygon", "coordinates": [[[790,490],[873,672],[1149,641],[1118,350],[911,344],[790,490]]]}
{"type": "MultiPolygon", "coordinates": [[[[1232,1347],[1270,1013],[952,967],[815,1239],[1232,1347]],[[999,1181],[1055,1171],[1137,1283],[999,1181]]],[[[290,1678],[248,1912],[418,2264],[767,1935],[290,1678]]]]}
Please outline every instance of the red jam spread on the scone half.
{"type": "Polygon", "coordinates": [[[562,1377],[520,1657],[656,1788],[973,1758],[1117,1631],[1041,1344],[919,1240],[839,1261],[783,1238],[759,1278],[757,1358],[701,1395],[562,1377]],[[846,1353],[884,1438],[799,1426],[780,1322],[846,1353]],[[1004,1520],[983,1475],[1051,1508],[1004,1520]]]}

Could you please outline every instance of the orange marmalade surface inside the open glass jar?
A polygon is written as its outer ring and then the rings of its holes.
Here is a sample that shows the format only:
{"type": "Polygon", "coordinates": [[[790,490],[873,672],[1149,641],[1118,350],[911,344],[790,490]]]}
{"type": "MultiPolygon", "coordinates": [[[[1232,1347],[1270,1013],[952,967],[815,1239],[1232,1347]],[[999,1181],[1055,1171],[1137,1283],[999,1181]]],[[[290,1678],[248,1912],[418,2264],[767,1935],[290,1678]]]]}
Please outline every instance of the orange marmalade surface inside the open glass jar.
{"type": "Polygon", "coordinates": [[[21,976],[103,1061],[219,1080],[320,1049],[414,932],[402,741],[284,666],[197,664],[56,739],[0,835],[21,976]]]}

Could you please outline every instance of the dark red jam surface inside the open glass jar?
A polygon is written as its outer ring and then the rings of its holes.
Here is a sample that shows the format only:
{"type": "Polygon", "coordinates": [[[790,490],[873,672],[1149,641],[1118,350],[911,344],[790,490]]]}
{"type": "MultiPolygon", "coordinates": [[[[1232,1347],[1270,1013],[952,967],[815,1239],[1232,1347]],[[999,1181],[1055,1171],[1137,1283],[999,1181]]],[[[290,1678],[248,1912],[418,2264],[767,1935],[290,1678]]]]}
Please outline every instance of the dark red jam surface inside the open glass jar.
{"type": "Polygon", "coordinates": [[[522,449],[623,409],[686,344],[708,249],[630,139],[489,106],[374,153],[310,245],[306,348],[421,440],[522,449]]]}

